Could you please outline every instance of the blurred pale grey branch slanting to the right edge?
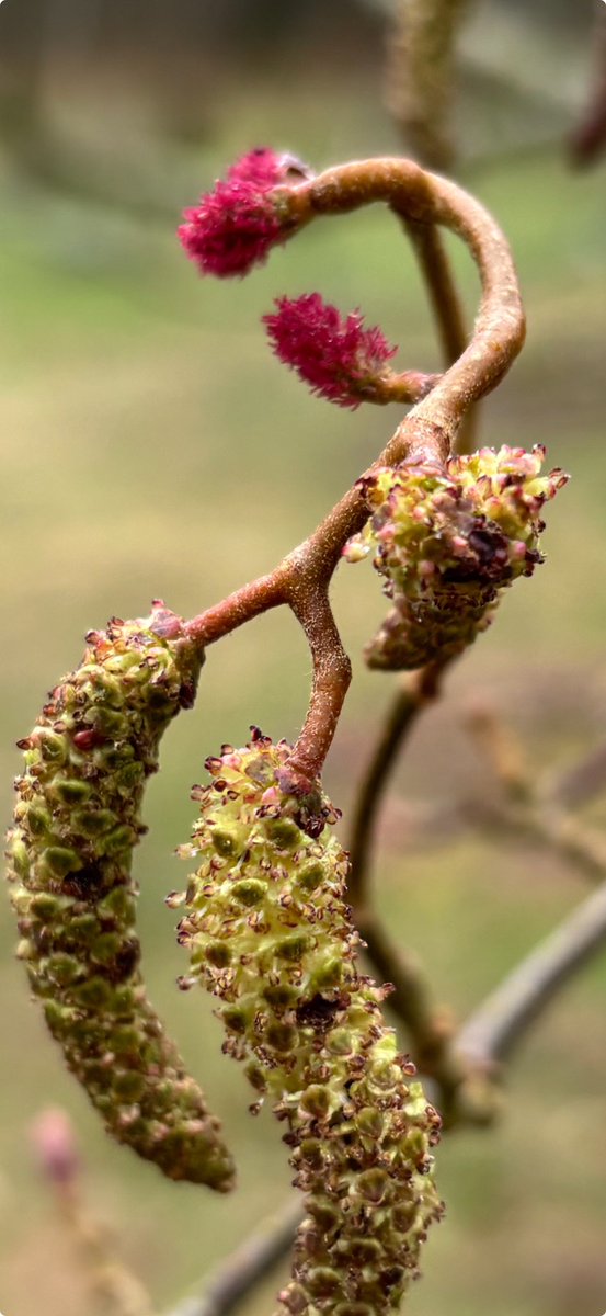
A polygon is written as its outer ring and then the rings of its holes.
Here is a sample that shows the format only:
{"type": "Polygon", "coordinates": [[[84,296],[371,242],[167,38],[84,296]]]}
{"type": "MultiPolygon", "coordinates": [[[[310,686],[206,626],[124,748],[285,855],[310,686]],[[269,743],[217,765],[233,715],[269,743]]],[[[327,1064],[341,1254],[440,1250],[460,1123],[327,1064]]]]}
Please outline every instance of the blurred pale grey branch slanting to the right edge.
{"type": "Polygon", "coordinates": [[[606,883],[522,961],[456,1038],[473,1065],[505,1061],[561,987],[606,944],[606,883]]]}

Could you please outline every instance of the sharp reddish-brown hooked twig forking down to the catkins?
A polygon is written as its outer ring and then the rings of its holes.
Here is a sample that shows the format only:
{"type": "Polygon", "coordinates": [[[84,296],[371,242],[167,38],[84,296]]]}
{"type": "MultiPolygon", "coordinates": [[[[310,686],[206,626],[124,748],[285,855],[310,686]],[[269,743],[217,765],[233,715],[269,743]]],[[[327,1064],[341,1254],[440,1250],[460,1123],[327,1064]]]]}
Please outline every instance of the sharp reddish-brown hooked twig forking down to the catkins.
{"type": "MultiPolygon", "coordinates": [[[[480,271],[481,305],[471,342],[398,426],[371,470],[405,459],[444,462],[468,408],[496,387],[523,343],[524,317],[511,254],[480,203],[410,161],[392,158],[343,164],[289,188],[292,233],[317,216],[347,213],[375,201],[386,203],[417,228],[452,229],[468,245],[480,271]]],[[[455,346],[455,337],[450,345],[455,346]]],[[[268,608],[291,607],[308,636],[314,665],[312,703],[292,754],[291,784],[300,791],[306,791],[322,770],[350,680],[327,591],[347,540],[367,516],[358,482],[273,571],[187,624],[189,637],[205,647],[268,608]]]]}

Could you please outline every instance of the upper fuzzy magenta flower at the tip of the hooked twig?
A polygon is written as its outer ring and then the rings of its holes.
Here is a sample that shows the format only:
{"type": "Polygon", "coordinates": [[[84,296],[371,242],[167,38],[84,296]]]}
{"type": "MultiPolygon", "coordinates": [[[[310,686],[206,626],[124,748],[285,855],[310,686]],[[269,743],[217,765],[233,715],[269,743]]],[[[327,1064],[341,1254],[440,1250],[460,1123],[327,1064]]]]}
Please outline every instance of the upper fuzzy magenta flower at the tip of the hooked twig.
{"type": "Polygon", "coordinates": [[[184,211],[181,243],[201,274],[247,274],[284,234],[273,188],[285,182],[288,157],[262,147],[242,155],[197,205],[184,211]]]}

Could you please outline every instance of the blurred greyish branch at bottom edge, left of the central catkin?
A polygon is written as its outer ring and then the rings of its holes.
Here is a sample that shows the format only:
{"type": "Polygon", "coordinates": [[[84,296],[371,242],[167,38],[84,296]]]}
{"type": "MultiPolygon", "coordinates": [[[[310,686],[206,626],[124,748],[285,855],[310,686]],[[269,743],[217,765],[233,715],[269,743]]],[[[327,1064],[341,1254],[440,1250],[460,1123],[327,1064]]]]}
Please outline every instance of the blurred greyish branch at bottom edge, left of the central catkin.
{"type": "Polygon", "coordinates": [[[301,1203],[287,1203],[221,1262],[202,1292],[185,1298],[167,1316],[229,1316],[288,1253],[301,1220],[301,1203]]]}

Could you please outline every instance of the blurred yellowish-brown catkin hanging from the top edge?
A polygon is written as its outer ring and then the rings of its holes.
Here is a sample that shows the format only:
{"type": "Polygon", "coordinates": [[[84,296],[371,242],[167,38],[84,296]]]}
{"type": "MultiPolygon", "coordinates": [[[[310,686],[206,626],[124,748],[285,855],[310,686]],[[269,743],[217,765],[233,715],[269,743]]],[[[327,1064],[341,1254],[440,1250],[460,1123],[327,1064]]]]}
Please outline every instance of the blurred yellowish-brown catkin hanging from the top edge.
{"type": "Polygon", "coordinates": [[[400,0],[389,43],[388,107],[406,149],[448,170],[455,158],[455,45],[469,0],[400,0]]]}

